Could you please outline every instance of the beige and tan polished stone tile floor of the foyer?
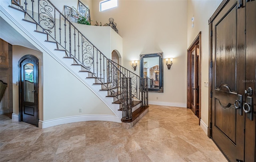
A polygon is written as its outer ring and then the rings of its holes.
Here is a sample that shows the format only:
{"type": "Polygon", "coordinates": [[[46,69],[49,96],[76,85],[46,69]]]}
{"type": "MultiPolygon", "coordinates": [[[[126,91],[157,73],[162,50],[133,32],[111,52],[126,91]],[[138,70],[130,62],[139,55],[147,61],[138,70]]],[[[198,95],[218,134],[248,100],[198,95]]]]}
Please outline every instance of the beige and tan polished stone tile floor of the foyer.
{"type": "Polygon", "coordinates": [[[0,162],[227,162],[186,108],[150,105],[131,129],[89,121],[40,129],[0,115],[0,162]]]}

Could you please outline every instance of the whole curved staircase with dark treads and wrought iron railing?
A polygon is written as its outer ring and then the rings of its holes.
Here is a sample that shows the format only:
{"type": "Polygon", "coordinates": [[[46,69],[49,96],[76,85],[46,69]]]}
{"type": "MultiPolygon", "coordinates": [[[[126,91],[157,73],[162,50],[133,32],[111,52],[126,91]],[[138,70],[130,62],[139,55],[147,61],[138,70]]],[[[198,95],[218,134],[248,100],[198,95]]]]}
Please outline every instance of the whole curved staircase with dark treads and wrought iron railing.
{"type": "Polygon", "coordinates": [[[146,114],[147,78],[112,62],[49,0],[12,2],[9,8],[17,12],[14,21],[21,27],[34,26],[28,35],[96,93],[125,128],[131,128],[146,114]]]}

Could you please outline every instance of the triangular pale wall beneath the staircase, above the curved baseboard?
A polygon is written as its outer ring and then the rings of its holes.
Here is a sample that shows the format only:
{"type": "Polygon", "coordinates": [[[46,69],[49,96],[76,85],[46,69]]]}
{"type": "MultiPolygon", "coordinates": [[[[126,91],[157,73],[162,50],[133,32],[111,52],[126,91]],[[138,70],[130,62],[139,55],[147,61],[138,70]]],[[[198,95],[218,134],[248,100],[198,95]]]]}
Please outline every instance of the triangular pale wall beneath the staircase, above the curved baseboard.
{"type": "Polygon", "coordinates": [[[114,113],[73,74],[44,55],[44,121],[78,115],[114,113]],[[79,112],[82,108],[82,112],[79,112]]]}

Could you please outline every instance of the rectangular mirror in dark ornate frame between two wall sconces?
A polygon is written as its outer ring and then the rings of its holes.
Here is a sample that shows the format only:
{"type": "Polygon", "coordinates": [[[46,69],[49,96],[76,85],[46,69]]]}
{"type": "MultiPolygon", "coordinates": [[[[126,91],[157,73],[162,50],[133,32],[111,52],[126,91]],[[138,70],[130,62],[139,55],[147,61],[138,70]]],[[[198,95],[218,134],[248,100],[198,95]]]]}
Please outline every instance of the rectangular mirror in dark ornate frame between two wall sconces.
{"type": "Polygon", "coordinates": [[[148,78],[148,92],[163,92],[163,54],[140,55],[140,76],[148,78]]]}

